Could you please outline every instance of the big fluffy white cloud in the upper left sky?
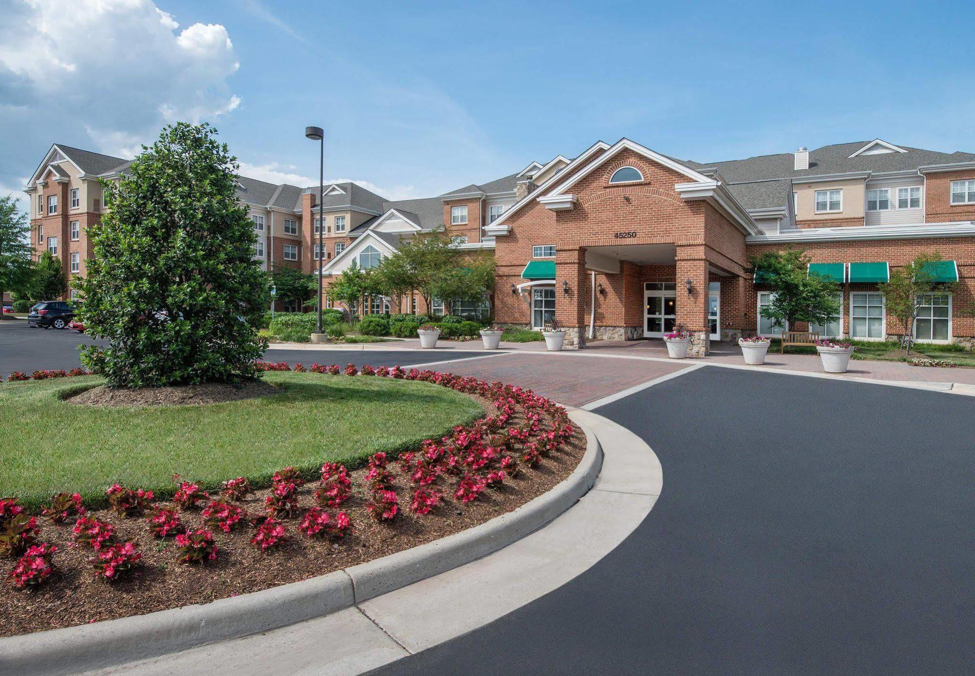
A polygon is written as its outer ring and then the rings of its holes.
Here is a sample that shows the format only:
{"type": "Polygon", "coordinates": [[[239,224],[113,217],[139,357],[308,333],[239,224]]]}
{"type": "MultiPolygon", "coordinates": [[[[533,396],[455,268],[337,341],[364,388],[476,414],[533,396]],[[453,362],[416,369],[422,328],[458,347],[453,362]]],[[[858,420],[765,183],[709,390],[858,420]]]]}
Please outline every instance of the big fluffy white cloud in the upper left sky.
{"type": "Polygon", "coordinates": [[[90,135],[89,147],[129,156],[164,122],[212,120],[241,104],[228,83],[240,63],[218,23],[175,32],[179,23],[151,0],[0,5],[5,129],[63,134],[73,123],[90,135]]]}

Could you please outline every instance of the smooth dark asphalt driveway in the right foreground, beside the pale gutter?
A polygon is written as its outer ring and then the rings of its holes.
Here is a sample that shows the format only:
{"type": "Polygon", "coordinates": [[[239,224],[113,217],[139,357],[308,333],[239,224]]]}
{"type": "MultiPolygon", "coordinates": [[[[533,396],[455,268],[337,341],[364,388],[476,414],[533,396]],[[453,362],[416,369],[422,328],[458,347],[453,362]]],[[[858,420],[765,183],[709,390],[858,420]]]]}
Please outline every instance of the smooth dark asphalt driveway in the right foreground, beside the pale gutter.
{"type": "Polygon", "coordinates": [[[971,673],[975,399],[705,368],[598,413],[663,464],[643,524],[382,673],[971,673]]]}

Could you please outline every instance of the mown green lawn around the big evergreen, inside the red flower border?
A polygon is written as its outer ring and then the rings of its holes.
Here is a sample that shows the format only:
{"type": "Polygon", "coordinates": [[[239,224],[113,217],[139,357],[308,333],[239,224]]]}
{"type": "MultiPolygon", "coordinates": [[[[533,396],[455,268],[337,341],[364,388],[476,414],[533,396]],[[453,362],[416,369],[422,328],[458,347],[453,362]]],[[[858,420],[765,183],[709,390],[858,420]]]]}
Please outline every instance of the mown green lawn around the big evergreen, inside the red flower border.
{"type": "Polygon", "coordinates": [[[314,476],[351,467],[483,415],[473,399],[427,382],[268,372],[281,394],[208,406],[106,409],[67,404],[98,377],[0,385],[0,497],[34,508],[61,491],[95,506],[115,482],[157,495],[173,474],[215,489],[237,476],[267,485],[287,465],[314,476]]]}

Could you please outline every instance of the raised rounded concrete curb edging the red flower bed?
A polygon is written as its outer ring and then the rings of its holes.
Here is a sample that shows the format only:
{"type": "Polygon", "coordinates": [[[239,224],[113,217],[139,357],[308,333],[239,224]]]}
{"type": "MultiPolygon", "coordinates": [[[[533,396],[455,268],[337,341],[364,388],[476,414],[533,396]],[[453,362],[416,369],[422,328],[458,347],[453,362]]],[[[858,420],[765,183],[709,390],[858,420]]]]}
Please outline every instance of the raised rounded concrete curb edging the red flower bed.
{"type": "Polygon", "coordinates": [[[78,673],[240,638],[327,616],[480,559],[545,526],[593,487],[603,449],[582,428],[586,453],[564,481],[480,526],[329,575],[203,606],[0,638],[0,673],[78,673]]]}

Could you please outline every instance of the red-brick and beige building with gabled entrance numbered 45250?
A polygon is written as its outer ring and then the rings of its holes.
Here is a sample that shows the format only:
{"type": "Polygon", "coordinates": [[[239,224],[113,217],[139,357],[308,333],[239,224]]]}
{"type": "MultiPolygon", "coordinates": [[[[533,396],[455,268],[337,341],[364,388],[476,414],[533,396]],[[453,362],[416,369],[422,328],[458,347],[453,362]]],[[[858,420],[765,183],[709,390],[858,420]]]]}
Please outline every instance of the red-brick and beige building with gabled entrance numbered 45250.
{"type": "MultiPolygon", "coordinates": [[[[66,274],[84,274],[91,254],[84,228],[101,212],[93,179],[117,177],[126,166],[52,146],[25,188],[37,252],[50,249],[66,274]]],[[[659,338],[682,324],[694,332],[693,353],[704,354],[712,340],[780,332],[761,318],[770,292],[748,274],[751,255],[803,249],[841,287],[839,315],[813,330],[883,339],[895,326],[878,283],[892,266],[938,252],[939,273],[958,285],[954,294],[924,298],[917,339],[975,338],[971,153],[874,139],[699,163],[621,139],[426,199],[390,201],[355,183],[326,187],[318,205],[317,186],[239,178],[254,255],[267,269],[317,270],[317,222],[325,227],[326,285],[353,260],[370,267],[414,233],[445,229],[461,249],[493,251],[496,285],[480,305],[435,303],[435,312],[490,311],[499,323],[536,328],[555,319],[571,346],[659,338]]],[[[373,298],[364,309],[415,304],[424,312],[421,302],[373,298]]]]}

